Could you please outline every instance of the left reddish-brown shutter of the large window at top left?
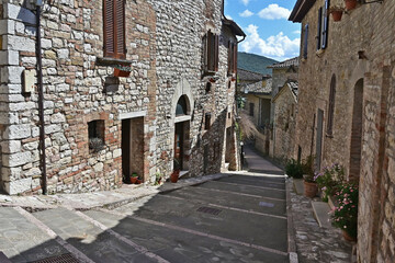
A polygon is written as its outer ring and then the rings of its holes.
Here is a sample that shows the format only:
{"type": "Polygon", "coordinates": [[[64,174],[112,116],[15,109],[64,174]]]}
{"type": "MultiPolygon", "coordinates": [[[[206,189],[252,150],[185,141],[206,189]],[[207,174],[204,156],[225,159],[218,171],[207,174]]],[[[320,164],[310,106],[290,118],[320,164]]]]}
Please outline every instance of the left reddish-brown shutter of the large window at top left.
{"type": "Polygon", "coordinates": [[[104,57],[113,57],[115,55],[114,46],[114,2],[113,0],[104,0],[103,19],[104,19],[104,57]]]}

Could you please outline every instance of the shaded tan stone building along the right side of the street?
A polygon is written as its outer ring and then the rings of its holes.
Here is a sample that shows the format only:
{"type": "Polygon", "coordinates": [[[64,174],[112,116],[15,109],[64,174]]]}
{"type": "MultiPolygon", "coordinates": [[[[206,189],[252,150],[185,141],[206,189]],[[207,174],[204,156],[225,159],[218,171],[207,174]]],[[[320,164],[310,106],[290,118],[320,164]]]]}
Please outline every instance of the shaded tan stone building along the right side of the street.
{"type": "Polygon", "coordinates": [[[302,24],[294,155],[359,182],[358,261],[395,262],[395,1],[297,0],[302,24]]]}

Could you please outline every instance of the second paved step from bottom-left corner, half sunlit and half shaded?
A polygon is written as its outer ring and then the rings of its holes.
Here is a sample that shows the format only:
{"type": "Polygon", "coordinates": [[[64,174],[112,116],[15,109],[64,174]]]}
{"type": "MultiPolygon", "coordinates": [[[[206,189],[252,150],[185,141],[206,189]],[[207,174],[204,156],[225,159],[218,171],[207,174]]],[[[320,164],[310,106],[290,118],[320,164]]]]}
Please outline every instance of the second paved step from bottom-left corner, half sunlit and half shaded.
{"type": "Polygon", "coordinates": [[[56,208],[33,213],[33,216],[93,262],[131,262],[132,258],[135,262],[155,262],[77,211],[56,208]]]}

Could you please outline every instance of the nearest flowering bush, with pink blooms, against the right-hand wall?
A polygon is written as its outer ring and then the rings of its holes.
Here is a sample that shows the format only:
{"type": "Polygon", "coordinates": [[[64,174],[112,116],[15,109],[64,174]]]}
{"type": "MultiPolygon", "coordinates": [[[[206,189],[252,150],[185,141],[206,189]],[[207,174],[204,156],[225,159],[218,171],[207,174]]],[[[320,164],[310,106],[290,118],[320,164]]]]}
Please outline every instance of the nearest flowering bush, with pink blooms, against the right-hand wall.
{"type": "Polygon", "coordinates": [[[357,238],[358,228],[358,185],[345,182],[335,195],[339,205],[331,210],[332,226],[357,238]]]}

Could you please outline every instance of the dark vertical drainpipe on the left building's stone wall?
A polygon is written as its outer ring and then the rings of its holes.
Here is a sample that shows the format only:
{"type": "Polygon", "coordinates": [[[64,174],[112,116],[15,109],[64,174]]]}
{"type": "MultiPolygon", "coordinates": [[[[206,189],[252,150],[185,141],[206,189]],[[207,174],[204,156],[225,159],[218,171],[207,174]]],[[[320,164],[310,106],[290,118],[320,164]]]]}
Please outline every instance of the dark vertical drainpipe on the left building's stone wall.
{"type": "Polygon", "coordinates": [[[42,0],[34,0],[36,5],[36,56],[37,56],[37,89],[38,89],[38,117],[40,117],[40,161],[42,169],[42,190],[43,194],[47,194],[47,176],[46,176],[46,158],[45,158],[45,123],[44,123],[44,89],[43,89],[43,64],[42,64],[42,46],[41,46],[41,7],[42,0]]]}

